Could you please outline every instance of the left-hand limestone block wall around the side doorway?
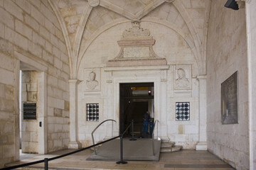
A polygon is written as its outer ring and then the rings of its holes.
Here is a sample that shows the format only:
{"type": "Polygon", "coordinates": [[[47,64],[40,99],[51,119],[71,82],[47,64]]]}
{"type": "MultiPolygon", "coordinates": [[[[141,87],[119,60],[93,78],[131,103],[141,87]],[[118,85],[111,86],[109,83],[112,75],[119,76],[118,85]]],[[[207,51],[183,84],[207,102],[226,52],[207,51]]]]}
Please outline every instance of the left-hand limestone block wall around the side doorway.
{"type": "Polygon", "coordinates": [[[41,153],[68,147],[69,66],[62,30],[48,1],[0,1],[0,167],[18,160],[18,77],[38,72],[41,153]],[[41,96],[41,97],[40,97],[41,96]],[[48,120],[48,121],[47,121],[48,120]],[[43,131],[42,131],[43,130],[43,131]],[[46,133],[47,131],[47,133],[46,133]],[[48,135],[46,135],[48,134],[48,135]]]}

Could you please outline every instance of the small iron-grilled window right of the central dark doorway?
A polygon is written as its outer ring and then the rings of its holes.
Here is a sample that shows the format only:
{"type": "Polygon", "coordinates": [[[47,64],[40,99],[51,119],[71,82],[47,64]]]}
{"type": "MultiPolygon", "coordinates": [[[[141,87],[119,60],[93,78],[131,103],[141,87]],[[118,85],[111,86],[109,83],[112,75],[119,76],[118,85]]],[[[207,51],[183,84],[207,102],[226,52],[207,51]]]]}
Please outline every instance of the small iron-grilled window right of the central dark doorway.
{"type": "Polygon", "coordinates": [[[190,120],[189,102],[176,102],[176,120],[190,120]]]}

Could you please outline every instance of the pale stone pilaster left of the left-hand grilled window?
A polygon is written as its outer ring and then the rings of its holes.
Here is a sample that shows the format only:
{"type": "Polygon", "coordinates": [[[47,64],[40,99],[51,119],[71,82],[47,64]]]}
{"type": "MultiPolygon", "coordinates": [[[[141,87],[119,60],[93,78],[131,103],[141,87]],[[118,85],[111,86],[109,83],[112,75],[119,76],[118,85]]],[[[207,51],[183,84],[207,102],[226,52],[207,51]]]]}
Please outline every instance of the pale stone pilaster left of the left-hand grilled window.
{"type": "Polygon", "coordinates": [[[81,147],[78,142],[78,79],[70,79],[70,142],[69,149],[81,147]]]}

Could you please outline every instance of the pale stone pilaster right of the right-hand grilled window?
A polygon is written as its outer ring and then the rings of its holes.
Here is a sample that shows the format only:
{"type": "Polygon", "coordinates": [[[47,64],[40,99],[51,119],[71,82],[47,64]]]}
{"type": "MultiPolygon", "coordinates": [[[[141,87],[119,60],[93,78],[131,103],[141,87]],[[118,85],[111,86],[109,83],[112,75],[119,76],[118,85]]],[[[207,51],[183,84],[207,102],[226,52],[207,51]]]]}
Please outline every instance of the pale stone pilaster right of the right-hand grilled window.
{"type": "Polygon", "coordinates": [[[207,150],[206,142],[206,75],[197,77],[199,81],[199,142],[196,150],[207,150]]]}

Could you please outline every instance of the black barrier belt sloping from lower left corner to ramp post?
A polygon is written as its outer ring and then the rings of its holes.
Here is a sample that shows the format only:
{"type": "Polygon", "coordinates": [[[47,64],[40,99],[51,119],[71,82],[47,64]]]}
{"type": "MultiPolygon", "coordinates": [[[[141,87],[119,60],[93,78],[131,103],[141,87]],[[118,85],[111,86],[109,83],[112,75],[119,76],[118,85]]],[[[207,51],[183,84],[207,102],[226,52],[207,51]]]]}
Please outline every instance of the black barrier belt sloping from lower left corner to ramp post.
{"type": "Polygon", "coordinates": [[[68,156],[68,155],[70,155],[70,154],[75,154],[75,153],[78,153],[78,152],[82,152],[82,151],[84,151],[84,150],[86,150],[86,149],[90,149],[91,147],[95,147],[95,146],[97,146],[97,145],[102,145],[102,144],[104,144],[105,142],[110,142],[111,140],[115,140],[115,139],[117,139],[118,137],[121,137],[121,135],[119,135],[119,136],[117,136],[117,137],[112,137],[112,138],[109,139],[109,140],[105,140],[105,141],[103,141],[103,142],[99,142],[99,143],[97,143],[97,144],[95,144],[95,145],[91,145],[90,147],[85,147],[85,148],[82,148],[82,149],[78,149],[78,150],[76,150],[76,151],[69,152],[69,153],[67,153],[67,154],[62,154],[62,155],[59,155],[59,156],[57,156],[57,157],[45,158],[45,159],[40,160],[40,161],[29,162],[29,163],[26,163],[26,164],[20,164],[20,165],[16,165],[16,166],[9,166],[9,167],[6,167],[6,168],[0,169],[0,170],[17,169],[17,168],[22,168],[22,167],[24,167],[24,166],[30,166],[30,165],[33,165],[33,164],[40,164],[40,163],[43,163],[43,162],[45,162],[45,170],[48,170],[48,162],[49,162],[49,161],[53,161],[53,160],[55,160],[55,159],[59,159],[59,158],[62,158],[62,157],[66,157],[66,156],[68,156]]]}

